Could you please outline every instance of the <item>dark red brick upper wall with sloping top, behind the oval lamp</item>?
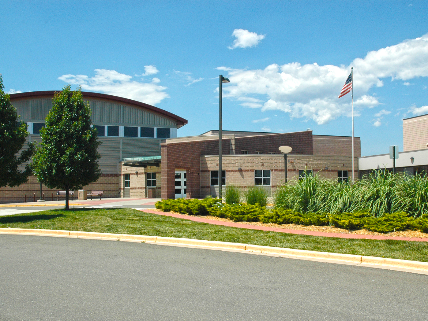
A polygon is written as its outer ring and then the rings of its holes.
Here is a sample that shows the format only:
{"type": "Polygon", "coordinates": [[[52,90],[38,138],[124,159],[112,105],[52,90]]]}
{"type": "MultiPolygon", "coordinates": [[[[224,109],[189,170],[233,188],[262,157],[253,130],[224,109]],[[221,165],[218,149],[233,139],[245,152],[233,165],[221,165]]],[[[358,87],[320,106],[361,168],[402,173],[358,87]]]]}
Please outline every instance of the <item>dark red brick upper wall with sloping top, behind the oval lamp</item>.
{"type": "Polygon", "coordinates": [[[241,154],[241,150],[248,150],[249,154],[256,152],[280,154],[279,146],[293,148],[291,154],[312,155],[312,130],[298,133],[284,133],[253,137],[235,138],[235,153],[241,154]]]}

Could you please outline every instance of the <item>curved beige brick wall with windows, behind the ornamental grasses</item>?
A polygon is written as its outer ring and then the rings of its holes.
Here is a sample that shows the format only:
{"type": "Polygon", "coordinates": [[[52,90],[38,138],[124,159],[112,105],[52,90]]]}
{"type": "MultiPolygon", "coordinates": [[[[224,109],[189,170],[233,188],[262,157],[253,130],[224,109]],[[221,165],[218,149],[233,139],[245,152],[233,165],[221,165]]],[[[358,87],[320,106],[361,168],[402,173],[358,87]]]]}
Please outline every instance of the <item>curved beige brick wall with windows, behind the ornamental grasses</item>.
{"type": "MultiPolygon", "coordinates": [[[[287,179],[297,180],[299,170],[312,170],[321,177],[336,179],[337,171],[348,171],[352,177],[352,160],[346,156],[288,156],[287,179]],[[326,169],[327,168],[327,169],[326,169]]],[[[355,160],[355,177],[358,177],[358,164],[355,160]]],[[[201,197],[210,194],[210,171],[218,169],[218,156],[201,156],[201,197]]],[[[246,188],[254,185],[254,170],[270,170],[272,193],[284,183],[284,158],[282,155],[225,155],[223,170],[226,171],[226,185],[233,184],[246,188]],[[241,168],[241,170],[238,170],[241,168]]]]}

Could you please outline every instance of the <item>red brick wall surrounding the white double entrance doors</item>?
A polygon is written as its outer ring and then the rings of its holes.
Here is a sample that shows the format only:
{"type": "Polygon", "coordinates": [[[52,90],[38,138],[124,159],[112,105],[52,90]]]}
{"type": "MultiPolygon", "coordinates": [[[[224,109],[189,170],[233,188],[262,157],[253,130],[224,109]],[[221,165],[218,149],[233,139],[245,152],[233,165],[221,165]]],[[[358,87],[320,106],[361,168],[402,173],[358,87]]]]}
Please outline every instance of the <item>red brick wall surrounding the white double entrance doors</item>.
{"type": "MultiPolygon", "coordinates": [[[[223,154],[230,154],[230,139],[223,139],[223,154]]],[[[187,197],[200,197],[200,156],[218,155],[218,141],[161,144],[162,199],[175,198],[175,169],[186,170],[187,197]]]]}

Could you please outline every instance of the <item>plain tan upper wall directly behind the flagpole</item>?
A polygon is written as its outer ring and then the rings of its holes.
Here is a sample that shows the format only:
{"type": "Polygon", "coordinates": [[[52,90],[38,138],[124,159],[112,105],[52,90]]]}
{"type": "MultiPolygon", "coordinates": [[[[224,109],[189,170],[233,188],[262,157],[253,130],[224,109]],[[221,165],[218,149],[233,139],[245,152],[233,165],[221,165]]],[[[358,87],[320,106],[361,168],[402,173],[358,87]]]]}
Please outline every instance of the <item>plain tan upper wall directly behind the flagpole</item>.
{"type": "MultiPolygon", "coordinates": [[[[352,154],[352,137],[313,135],[314,155],[349,156],[352,154]]],[[[354,137],[354,157],[361,156],[360,137],[354,137]]]]}

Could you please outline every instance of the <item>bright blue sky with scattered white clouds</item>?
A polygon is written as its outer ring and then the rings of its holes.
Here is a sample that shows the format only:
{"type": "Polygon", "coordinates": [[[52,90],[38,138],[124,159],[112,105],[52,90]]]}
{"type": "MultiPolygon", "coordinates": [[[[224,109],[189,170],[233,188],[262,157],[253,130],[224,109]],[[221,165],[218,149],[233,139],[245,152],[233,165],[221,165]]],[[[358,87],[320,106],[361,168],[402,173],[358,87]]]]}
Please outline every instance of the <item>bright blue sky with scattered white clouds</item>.
{"type": "Polygon", "coordinates": [[[350,135],[351,96],[337,95],[351,66],[362,155],[402,150],[402,119],[428,113],[426,1],[1,6],[7,91],[80,84],[186,118],[179,136],[218,129],[219,74],[225,130],[350,135]]]}

